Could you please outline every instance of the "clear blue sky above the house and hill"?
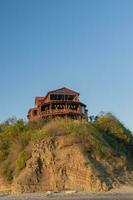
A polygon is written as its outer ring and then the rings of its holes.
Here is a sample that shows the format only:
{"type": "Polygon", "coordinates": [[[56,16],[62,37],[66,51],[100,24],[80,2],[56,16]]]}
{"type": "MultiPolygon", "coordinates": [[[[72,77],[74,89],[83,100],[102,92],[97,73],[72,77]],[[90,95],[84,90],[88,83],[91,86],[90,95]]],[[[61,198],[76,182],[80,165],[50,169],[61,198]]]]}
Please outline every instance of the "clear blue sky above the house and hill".
{"type": "Polygon", "coordinates": [[[0,121],[64,86],[133,130],[132,0],[0,1],[0,121]]]}

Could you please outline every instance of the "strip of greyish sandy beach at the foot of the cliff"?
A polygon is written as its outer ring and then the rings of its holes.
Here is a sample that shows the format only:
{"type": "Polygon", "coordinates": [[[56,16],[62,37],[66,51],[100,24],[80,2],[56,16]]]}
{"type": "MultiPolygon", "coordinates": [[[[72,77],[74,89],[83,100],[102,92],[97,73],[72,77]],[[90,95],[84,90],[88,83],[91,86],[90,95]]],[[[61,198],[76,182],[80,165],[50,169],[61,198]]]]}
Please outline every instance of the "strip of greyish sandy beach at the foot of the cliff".
{"type": "Polygon", "coordinates": [[[119,189],[101,193],[61,192],[61,193],[28,193],[19,195],[1,194],[0,200],[132,200],[133,187],[124,186],[119,189]]]}

